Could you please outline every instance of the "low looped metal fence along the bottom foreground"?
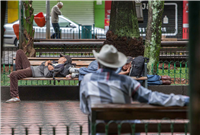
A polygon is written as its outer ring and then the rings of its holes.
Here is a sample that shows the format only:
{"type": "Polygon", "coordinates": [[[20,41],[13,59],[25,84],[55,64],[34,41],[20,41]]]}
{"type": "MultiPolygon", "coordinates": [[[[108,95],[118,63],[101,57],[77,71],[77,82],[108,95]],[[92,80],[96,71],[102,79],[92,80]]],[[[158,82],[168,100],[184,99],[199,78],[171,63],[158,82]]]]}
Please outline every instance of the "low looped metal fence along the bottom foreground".
{"type": "MultiPolygon", "coordinates": [[[[140,121],[140,120],[137,120],[140,121]]],[[[116,124],[116,129],[115,132],[118,133],[118,135],[122,134],[123,132],[123,125],[124,124],[129,124],[130,128],[131,128],[131,133],[132,135],[138,135],[136,134],[137,130],[136,127],[141,125],[141,123],[144,125],[143,128],[140,129],[140,131],[143,131],[142,133],[144,134],[148,134],[148,135],[160,135],[161,133],[166,133],[166,132],[162,132],[162,123],[163,120],[154,120],[154,122],[152,122],[153,120],[143,120],[140,121],[139,123],[130,123],[127,121],[121,121],[121,122],[116,122],[116,121],[110,121],[107,124],[106,123],[99,123],[99,124],[103,124],[104,128],[105,128],[105,132],[104,134],[108,135],[109,134],[109,129],[110,129],[110,125],[111,123],[115,123],[116,124]],[[156,122],[155,122],[156,121],[156,122]],[[151,131],[149,131],[149,127],[148,125],[150,124],[155,124],[155,126],[157,127],[157,132],[153,132],[151,134],[151,131]]],[[[175,134],[176,133],[176,125],[178,125],[178,123],[176,123],[177,120],[165,120],[165,122],[167,121],[167,123],[169,123],[170,125],[170,132],[168,132],[167,134],[175,134]]],[[[180,122],[180,120],[178,120],[180,122]]],[[[95,124],[94,127],[97,127],[99,124],[95,124]]],[[[164,125],[164,123],[163,123],[164,125]]],[[[188,135],[189,130],[189,122],[182,120],[182,125],[184,126],[184,132],[179,132],[179,135],[188,135]]],[[[25,134],[25,135],[43,135],[43,134],[52,134],[52,135],[56,135],[56,134],[66,134],[66,135],[88,135],[88,131],[87,131],[87,123],[83,123],[83,124],[79,124],[77,122],[73,122],[73,123],[58,123],[56,125],[52,125],[50,123],[48,124],[31,124],[31,125],[25,125],[25,124],[16,124],[16,125],[6,125],[3,124],[3,126],[0,127],[0,133],[1,134],[7,134],[7,135],[16,135],[16,134],[25,134]]],[[[95,130],[96,128],[94,128],[95,130]]],[[[112,129],[113,130],[113,129],[112,129]]],[[[114,131],[112,131],[114,132],[114,131]]]]}

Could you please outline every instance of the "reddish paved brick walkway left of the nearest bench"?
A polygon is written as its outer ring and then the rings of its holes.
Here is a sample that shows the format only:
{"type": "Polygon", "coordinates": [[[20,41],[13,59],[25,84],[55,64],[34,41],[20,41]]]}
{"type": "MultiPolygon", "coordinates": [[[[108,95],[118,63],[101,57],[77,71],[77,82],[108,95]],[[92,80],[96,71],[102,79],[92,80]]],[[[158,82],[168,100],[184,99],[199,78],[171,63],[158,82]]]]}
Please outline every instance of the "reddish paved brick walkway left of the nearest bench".
{"type": "Polygon", "coordinates": [[[52,135],[53,127],[56,127],[56,135],[66,134],[65,125],[70,124],[70,135],[80,134],[79,125],[83,126],[83,134],[88,132],[87,116],[80,111],[78,101],[1,103],[0,113],[1,135],[11,135],[11,127],[15,128],[15,134],[25,134],[24,127],[29,127],[29,135],[38,135],[41,125],[45,135],[52,135]]]}

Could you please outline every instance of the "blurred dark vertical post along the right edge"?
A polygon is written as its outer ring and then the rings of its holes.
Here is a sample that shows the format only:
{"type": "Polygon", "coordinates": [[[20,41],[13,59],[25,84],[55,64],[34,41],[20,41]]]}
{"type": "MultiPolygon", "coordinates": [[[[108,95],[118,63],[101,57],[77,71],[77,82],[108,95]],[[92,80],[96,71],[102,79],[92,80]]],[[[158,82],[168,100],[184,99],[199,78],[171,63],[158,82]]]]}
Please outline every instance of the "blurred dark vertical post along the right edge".
{"type": "Polygon", "coordinates": [[[190,68],[190,133],[199,135],[200,128],[200,1],[189,0],[189,68],[190,68]],[[198,9],[198,10],[197,10],[198,9]]]}

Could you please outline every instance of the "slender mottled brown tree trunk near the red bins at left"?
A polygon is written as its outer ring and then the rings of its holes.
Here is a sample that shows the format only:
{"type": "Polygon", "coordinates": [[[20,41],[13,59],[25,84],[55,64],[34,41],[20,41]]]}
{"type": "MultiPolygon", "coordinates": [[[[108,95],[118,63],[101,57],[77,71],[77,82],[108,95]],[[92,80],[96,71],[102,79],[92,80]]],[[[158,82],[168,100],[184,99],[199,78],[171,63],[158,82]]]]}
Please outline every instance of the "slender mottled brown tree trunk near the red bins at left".
{"type": "Polygon", "coordinates": [[[35,56],[35,49],[33,45],[34,39],[34,29],[33,29],[33,8],[32,8],[32,0],[23,0],[24,8],[25,8],[25,18],[23,18],[24,23],[24,40],[22,43],[23,50],[28,57],[35,56]]]}

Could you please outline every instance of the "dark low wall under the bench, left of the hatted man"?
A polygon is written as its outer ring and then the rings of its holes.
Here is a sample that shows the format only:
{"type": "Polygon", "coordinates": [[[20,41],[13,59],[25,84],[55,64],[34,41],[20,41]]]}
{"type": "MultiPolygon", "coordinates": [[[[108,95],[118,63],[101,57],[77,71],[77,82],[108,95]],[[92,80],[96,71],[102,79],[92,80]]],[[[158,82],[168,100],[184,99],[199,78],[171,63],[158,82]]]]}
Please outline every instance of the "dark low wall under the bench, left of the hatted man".
{"type": "MultiPolygon", "coordinates": [[[[10,98],[10,87],[2,86],[1,100],[10,98]]],[[[79,100],[78,86],[19,86],[21,100],[79,100]]]]}

